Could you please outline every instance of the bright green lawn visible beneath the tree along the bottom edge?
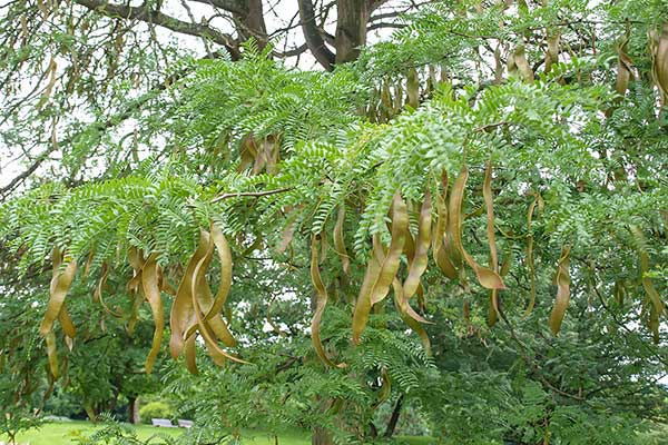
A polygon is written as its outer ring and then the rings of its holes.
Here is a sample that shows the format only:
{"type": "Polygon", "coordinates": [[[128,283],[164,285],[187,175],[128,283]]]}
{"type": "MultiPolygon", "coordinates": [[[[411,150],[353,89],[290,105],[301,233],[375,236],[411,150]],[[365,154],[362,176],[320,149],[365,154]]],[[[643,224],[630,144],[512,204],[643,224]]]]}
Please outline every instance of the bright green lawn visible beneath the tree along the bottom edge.
{"type": "MultiPolygon", "coordinates": [[[[53,422],[42,425],[39,429],[31,429],[20,434],[19,444],[29,445],[66,445],[73,444],[73,439],[88,435],[95,429],[96,425],[90,422],[53,422]]],[[[170,436],[178,436],[184,433],[180,428],[157,428],[148,425],[138,425],[137,433],[140,439],[147,439],[150,436],[161,433],[170,436]]],[[[0,441],[6,439],[0,436],[0,441]]],[[[243,437],[244,445],[274,445],[274,437],[263,432],[246,432],[243,437]]],[[[433,442],[429,437],[397,437],[396,444],[405,445],[428,445],[433,442]]],[[[308,445],[311,437],[305,432],[285,432],[278,436],[279,445],[308,445]]]]}

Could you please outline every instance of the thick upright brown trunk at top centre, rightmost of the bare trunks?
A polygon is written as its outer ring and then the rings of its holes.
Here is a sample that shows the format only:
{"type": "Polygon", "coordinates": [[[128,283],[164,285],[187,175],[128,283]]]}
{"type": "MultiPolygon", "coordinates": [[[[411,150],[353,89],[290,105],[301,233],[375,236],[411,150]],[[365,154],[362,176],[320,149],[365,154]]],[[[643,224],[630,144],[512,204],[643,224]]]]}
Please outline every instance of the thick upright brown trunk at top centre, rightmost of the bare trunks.
{"type": "Polygon", "coordinates": [[[336,63],[357,59],[366,43],[369,7],[366,0],[336,0],[336,63]]]}

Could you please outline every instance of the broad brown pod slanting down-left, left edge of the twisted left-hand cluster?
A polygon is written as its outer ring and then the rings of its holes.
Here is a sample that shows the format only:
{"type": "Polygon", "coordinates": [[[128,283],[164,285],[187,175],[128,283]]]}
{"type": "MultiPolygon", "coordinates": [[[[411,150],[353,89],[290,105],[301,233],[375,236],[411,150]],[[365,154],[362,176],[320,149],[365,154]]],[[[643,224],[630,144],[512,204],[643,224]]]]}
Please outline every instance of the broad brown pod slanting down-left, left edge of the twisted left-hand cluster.
{"type": "Polygon", "coordinates": [[[171,329],[169,353],[174,359],[178,358],[184,347],[184,334],[188,326],[193,325],[195,322],[193,298],[190,297],[193,271],[199,259],[206,255],[208,249],[208,237],[209,235],[206,230],[200,230],[199,244],[188,261],[184,277],[176,290],[176,297],[171,304],[171,312],[169,314],[169,327],[171,329]]]}

